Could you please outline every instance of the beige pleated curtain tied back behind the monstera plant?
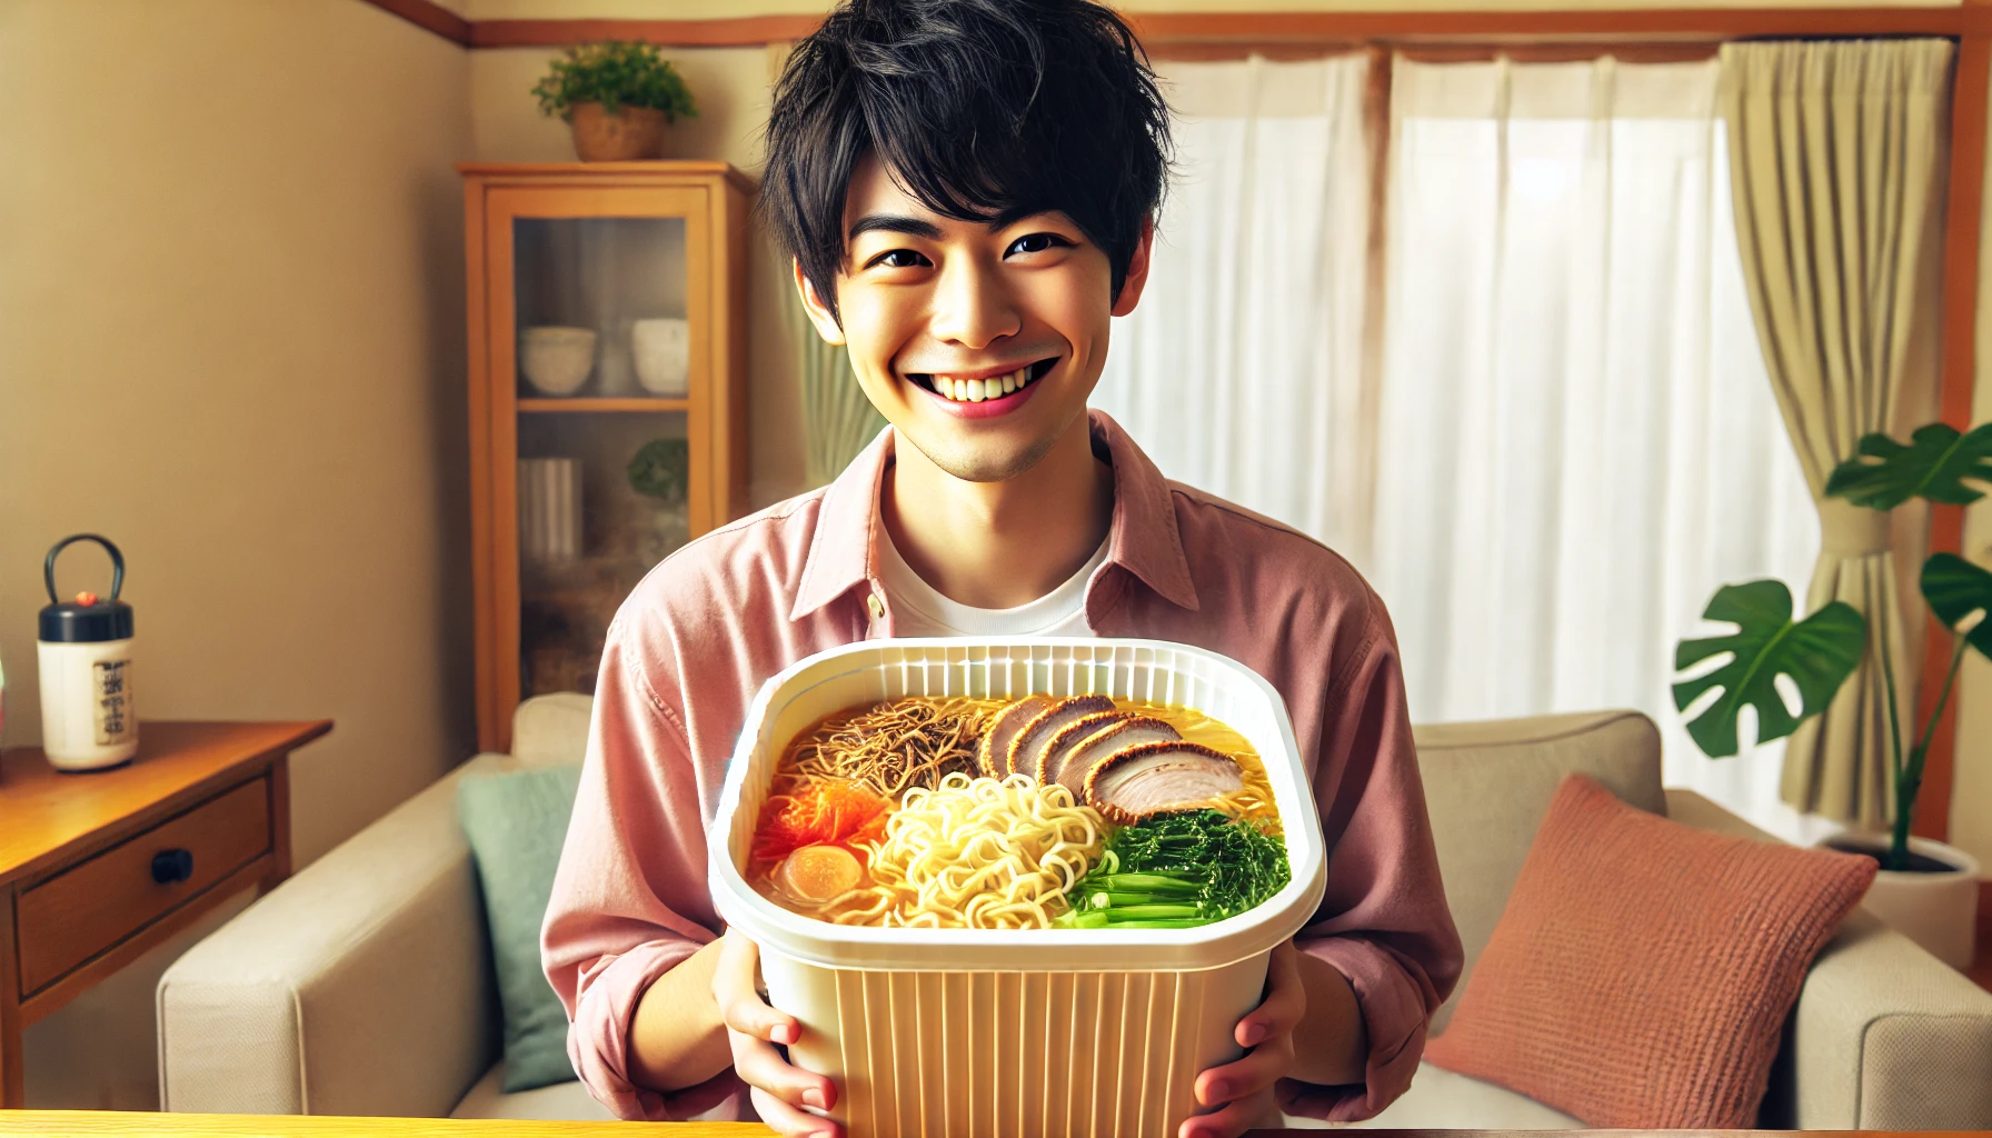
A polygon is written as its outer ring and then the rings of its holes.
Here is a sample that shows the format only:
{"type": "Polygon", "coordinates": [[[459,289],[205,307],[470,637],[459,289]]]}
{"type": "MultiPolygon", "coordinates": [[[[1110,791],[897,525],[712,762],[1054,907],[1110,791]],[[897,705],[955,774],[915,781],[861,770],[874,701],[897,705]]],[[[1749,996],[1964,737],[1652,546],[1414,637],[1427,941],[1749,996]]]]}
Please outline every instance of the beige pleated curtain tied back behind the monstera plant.
{"type": "Polygon", "coordinates": [[[1920,638],[1904,618],[1890,540],[1908,526],[1819,494],[1863,434],[1902,436],[1930,407],[1950,56],[1948,40],[1721,52],[1743,275],[1771,387],[1819,502],[1805,612],[1845,600],[1868,618],[1861,670],[1785,749],[1783,797],[1865,827],[1892,809],[1884,650],[1904,749],[1910,735],[1920,638]]]}

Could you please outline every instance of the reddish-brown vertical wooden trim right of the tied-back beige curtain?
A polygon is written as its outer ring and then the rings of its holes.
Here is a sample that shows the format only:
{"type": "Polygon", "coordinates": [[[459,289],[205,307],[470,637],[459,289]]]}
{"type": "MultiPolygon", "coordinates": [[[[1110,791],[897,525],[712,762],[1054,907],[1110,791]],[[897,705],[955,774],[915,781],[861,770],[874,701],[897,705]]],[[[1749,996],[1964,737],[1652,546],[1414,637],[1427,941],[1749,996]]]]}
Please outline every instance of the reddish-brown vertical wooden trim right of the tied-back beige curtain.
{"type": "MultiPolygon", "coordinates": [[[[1964,12],[1984,12],[1964,8],[1964,12]]],[[[1944,211],[1944,349],[1940,417],[1958,430],[1972,425],[1978,367],[1978,251],[1986,169],[1986,96],[1992,88],[1992,36],[1958,40],[1950,96],[1950,185],[1944,211]]],[[[1964,506],[1930,506],[1930,552],[1964,552],[1964,506]]],[[[1936,616],[1922,652],[1916,690],[1916,725],[1928,723],[1938,690],[1950,672],[1952,634],[1936,616]]],[[[1922,793],[1912,829],[1944,841],[1950,835],[1950,793],[1956,783],[1958,704],[1952,692],[1924,755],[1922,793]]]]}

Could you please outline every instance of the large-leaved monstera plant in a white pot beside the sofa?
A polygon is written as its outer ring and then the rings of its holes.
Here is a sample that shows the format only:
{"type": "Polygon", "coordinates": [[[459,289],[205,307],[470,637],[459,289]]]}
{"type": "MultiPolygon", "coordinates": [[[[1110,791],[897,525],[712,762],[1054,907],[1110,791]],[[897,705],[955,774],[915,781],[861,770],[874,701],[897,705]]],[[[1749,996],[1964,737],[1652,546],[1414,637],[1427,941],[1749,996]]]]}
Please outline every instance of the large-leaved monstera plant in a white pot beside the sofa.
{"type": "MultiPolygon", "coordinates": [[[[1992,484],[1992,423],[1968,432],[1932,423],[1910,434],[1908,444],[1868,434],[1861,438],[1853,458],[1833,468],[1825,492],[1884,512],[1910,498],[1964,506],[1984,496],[1968,480],[1992,484]]],[[[1719,654],[1733,656],[1711,672],[1677,682],[1673,702],[1685,713],[1697,700],[1719,690],[1697,710],[1687,733],[1709,757],[1727,757],[1737,753],[1737,717],[1745,706],[1757,710],[1759,743],[1781,739],[1801,721],[1825,711],[1861,656],[1876,652],[1888,694],[1892,825],[1886,835],[1843,833],[1829,837],[1827,845],[1874,857],[1880,873],[1865,905],[1944,963],[1962,969],[1972,957],[1978,863],[1950,845],[1910,837],[1908,827],[1922,789],[1930,737],[1944,717],[1958,666],[1966,650],[1992,660],[1992,572],[1956,554],[1932,554],[1922,562],[1918,584],[1930,612],[1948,630],[1952,650],[1936,706],[1906,753],[1886,638],[1878,638],[1878,648],[1872,648],[1867,622],[1845,602],[1827,604],[1793,622],[1791,590],[1777,580],[1731,584],[1715,592],[1703,616],[1733,622],[1737,632],[1683,640],[1675,648],[1673,666],[1687,672],[1719,654]],[[1797,711],[1779,694],[1779,676],[1795,688],[1797,711]]]]}

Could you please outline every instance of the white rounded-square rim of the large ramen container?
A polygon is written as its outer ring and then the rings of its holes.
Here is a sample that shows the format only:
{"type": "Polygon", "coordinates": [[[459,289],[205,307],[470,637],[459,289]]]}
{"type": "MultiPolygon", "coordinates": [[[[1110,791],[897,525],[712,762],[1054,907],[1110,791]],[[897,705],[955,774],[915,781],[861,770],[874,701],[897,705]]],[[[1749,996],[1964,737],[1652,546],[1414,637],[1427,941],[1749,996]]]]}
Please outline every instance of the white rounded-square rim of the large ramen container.
{"type": "MultiPolygon", "coordinates": [[[[851,660],[859,670],[861,660],[851,660]]],[[[884,971],[1030,971],[1030,973],[1100,973],[1100,971],[1203,971],[1271,951],[1299,933],[1315,915],[1327,891],[1327,853],[1321,819],[1315,811],[1313,787],[1299,757],[1293,721],[1285,700],[1257,672],[1229,656],[1165,640],[1135,638],[906,638],[861,640],[797,660],[771,676],[747,710],[733,759],[719,797],[713,827],[707,831],[707,869],[713,907],[719,917],[751,941],[775,947],[783,955],[829,969],[884,971]],[[769,717],[775,696],[785,692],[805,672],[849,658],[869,658],[884,664],[888,654],[934,652],[936,662],[960,658],[976,650],[1072,650],[1074,660],[1104,664],[1123,650],[1149,650],[1205,662],[1223,674],[1225,684],[1243,688],[1249,698],[1263,700],[1265,711],[1279,733],[1279,751],[1261,751],[1273,799],[1279,805],[1281,829],[1287,837],[1291,877],[1273,897],[1253,909],[1195,929],[876,929],[833,925],[775,905],[755,891],[733,863],[733,817],[741,807],[753,751],[761,725],[769,717]],[[1279,769],[1275,769],[1279,763],[1279,769]],[[1036,949],[1020,955],[1020,949],[1036,949]],[[1112,951],[1112,959],[1104,959],[1112,951]]]]}

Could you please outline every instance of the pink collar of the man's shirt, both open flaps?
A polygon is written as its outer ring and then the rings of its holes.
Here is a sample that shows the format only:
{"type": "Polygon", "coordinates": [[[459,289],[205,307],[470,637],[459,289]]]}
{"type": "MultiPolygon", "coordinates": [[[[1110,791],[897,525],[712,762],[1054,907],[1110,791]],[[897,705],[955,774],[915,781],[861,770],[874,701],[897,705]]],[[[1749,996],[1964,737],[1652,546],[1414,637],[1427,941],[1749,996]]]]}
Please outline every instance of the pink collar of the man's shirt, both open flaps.
{"type": "MultiPolygon", "coordinates": [[[[1094,450],[1106,448],[1114,462],[1114,522],[1108,530],[1108,564],[1118,564],[1179,608],[1197,608],[1189,560],[1175,528],[1175,500],[1161,470],[1127,438],[1104,411],[1088,411],[1094,450]]],[[[872,532],[878,524],[878,490],[892,460],[890,427],[845,466],[823,492],[817,532],[809,540],[803,582],[795,590],[789,620],[845,596],[876,578],[872,532]]],[[[1094,580],[1100,580],[1098,574],[1094,580]]]]}

